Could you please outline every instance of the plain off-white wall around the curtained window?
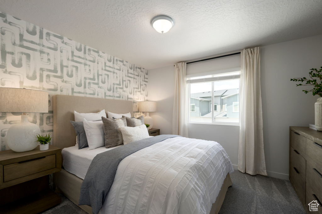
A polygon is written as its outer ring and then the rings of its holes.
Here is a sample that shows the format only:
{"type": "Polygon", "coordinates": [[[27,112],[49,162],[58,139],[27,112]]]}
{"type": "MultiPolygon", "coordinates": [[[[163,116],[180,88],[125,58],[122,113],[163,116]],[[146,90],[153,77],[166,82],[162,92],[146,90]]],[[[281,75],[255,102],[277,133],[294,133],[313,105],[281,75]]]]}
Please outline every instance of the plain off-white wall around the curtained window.
{"type": "MultiPolygon", "coordinates": [[[[263,46],[260,51],[266,167],[269,176],[288,179],[289,126],[314,123],[317,100],[290,79],[307,77],[310,68],[322,66],[322,35],[263,46]]],[[[149,100],[157,101],[157,111],[150,113],[154,128],[171,134],[174,67],[152,69],[148,74],[149,100]]],[[[219,142],[237,165],[239,126],[189,124],[189,137],[219,142]]]]}

